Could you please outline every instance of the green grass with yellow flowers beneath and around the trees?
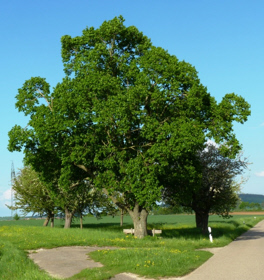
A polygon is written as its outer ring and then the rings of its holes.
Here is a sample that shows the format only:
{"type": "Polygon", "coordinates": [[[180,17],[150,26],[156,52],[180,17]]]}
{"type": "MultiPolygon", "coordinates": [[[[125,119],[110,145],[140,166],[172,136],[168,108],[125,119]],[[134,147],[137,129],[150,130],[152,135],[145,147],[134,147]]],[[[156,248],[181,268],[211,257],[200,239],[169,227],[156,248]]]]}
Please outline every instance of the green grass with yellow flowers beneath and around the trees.
{"type": "MultiPolygon", "coordinates": [[[[86,218],[84,229],[76,220],[71,229],[63,229],[63,221],[56,220],[55,228],[42,227],[43,220],[0,222],[0,279],[55,279],[48,276],[27,257],[27,250],[60,246],[115,246],[118,250],[98,250],[90,256],[104,267],[85,269],[69,279],[109,279],[117,273],[131,272],[152,278],[182,276],[200,266],[211,253],[199,248],[221,247],[247,231],[263,216],[236,215],[224,220],[211,216],[214,242],[195,228],[193,215],[150,216],[149,229],[162,229],[155,237],[136,239],[125,235],[119,217],[97,220],[86,218]]],[[[131,219],[124,217],[123,228],[131,228],[131,219]]]]}

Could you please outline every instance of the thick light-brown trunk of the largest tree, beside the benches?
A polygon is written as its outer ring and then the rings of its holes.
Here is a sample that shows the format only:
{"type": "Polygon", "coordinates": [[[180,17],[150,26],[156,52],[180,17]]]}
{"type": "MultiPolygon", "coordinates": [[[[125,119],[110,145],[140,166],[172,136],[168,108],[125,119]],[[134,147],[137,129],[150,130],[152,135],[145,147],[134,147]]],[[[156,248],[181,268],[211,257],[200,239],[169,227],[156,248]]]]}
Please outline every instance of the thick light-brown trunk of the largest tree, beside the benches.
{"type": "Polygon", "coordinates": [[[134,236],[137,238],[147,236],[148,211],[136,204],[133,211],[128,210],[128,212],[134,223],[134,236]]]}

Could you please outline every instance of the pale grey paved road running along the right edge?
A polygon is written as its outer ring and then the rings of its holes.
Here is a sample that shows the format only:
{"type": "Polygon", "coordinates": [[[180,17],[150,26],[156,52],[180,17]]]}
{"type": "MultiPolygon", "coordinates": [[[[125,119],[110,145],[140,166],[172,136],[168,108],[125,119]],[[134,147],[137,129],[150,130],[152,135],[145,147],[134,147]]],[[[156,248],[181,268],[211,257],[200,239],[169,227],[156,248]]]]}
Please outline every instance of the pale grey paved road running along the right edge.
{"type": "Polygon", "coordinates": [[[263,280],[264,220],[182,280],[263,280]]]}

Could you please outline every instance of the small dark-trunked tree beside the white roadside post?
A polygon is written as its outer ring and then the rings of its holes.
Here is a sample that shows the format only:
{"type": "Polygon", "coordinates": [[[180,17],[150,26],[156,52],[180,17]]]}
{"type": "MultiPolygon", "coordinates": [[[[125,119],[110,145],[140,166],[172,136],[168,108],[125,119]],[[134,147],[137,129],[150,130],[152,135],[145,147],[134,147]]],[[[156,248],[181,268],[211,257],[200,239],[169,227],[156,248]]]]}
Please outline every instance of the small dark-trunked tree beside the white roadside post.
{"type": "Polygon", "coordinates": [[[235,181],[247,167],[241,154],[234,159],[224,156],[221,147],[208,144],[192,160],[185,159],[184,169],[175,168],[167,180],[164,196],[171,204],[180,204],[195,212],[196,226],[207,232],[209,214],[229,217],[239,201],[241,183],[235,181]]]}

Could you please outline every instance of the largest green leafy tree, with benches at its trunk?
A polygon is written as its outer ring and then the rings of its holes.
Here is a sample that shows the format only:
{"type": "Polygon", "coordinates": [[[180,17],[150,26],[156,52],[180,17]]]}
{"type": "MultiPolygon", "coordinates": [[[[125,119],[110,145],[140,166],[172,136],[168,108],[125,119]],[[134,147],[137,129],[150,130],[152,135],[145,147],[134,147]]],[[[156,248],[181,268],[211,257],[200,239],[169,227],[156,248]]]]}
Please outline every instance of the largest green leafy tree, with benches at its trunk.
{"type": "MultiPolygon", "coordinates": [[[[17,96],[20,111],[38,115],[32,145],[56,148],[62,177],[67,166],[83,170],[143,237],[167,166],[201,149],[208,137],[225,141],[235,155],[240,145],[232,122],[246,121],[249,106],[235,94],[217,104],[193,66],[153,46],[122,17],[61,42],[63,81],[50,93],[44,79],[32,78],[17,96]],[[47,101],[43,111],[39,97],[47,101]]],[[[17,144],[21,130],[13,132],[13,149],[30,146],[17,144]]]]}

